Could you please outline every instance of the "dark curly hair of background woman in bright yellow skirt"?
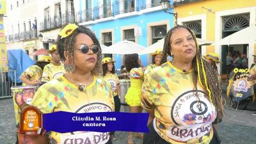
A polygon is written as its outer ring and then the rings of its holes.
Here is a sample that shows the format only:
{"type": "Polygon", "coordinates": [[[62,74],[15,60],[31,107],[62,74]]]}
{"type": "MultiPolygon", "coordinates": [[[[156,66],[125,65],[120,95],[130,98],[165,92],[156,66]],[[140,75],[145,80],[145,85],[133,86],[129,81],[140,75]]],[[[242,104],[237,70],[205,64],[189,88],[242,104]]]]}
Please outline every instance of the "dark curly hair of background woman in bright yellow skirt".
{"type": "Polygon", "coordinates": [[[127,54],[127,56],[125,57],[125,64],[124,64],[127,72],[130,72],[132,68],[140,67],[138,60],[139,60],[138,54],[127,54]]]}

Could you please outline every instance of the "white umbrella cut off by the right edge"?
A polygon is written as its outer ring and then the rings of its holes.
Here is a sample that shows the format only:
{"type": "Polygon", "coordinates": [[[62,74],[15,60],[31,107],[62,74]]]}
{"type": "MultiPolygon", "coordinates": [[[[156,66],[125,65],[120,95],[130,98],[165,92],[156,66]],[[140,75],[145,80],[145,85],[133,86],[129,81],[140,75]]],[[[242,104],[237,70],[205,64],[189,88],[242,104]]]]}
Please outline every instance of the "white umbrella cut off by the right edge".
{"type": "Polygon", "coordinates": [[[220,45],[251,44],[256,40],[256,26],[244,28],[220,40],[220,45]]]}

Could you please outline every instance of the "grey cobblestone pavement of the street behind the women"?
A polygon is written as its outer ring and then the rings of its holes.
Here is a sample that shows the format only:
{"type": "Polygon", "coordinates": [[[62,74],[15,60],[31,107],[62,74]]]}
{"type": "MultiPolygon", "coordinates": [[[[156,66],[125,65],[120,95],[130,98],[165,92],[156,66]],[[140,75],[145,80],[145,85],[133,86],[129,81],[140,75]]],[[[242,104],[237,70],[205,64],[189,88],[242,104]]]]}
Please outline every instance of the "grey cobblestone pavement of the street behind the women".
{"type": "MultiPolygon", "coordinates": [[[[219,124],[222,144],[256,144],[256,116],[253,111],[241,111],[226,106],[225,118],[219,124]]],[[[15,117],[12,99],[0,99],[0,144],[14,144],[16,141],[15,117]]],[[[127,132],[116,132],[118,140],[113,144],[125,144],[127,132]]],[[[134,144],[142,141],[134,138],[134,144]]]]}

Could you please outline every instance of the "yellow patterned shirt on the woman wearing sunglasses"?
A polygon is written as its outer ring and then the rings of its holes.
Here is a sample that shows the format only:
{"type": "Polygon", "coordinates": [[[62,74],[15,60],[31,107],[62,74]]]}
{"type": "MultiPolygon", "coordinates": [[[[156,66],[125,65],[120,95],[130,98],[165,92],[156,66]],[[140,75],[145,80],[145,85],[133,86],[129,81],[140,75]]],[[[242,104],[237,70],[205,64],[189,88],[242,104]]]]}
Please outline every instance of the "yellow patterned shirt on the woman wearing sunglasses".
{"type": "MultiPolygon", "coordinates": [[[[114,111],[114,99],[110,85],[100,77],[94,77],[92,84],[81,92],[78,87],[70,83],[64,76],[41,86],[35,93],[32,106],[36,106],[42,113],[54,111],[68,111],[73,113],[92,113],[114,111]]],[[[72,139],[80,139],[85,143],[103,144],[109,140],[109,132],[51,132],[52,143],[72,143],[72,139]],[[88,142],[89,141],[89,142],[88,142]]]]}

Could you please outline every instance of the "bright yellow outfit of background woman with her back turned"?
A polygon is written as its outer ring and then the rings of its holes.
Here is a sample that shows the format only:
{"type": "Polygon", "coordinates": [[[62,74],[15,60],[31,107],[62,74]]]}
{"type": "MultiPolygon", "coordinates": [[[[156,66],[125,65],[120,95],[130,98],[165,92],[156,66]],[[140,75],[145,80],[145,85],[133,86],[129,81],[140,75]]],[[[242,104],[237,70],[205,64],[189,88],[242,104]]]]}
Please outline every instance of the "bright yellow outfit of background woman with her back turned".
{"type": "Polygon", "coordinates": [[[127,102],[129,106],[140,106],[141,88],[144,79],[143,69],[141,67],[132,68],[129,73],[129,77],[131,80],[131,86],[125,95],[125,102],[127,102]]]}

